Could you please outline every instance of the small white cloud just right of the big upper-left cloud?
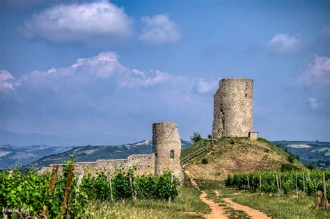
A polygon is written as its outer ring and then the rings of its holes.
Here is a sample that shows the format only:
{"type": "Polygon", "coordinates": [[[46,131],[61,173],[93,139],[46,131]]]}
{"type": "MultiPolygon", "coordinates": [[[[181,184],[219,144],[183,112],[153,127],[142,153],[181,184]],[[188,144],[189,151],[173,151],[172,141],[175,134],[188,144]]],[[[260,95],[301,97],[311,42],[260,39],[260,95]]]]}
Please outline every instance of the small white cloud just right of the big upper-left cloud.
{"type": "Polygon", "coordinates": [[[181,34],[178,25],[171,21],[167,15],[142,17],[143,29],[140,40],[147,44],[172,43],[180,40],[181,34]]]}

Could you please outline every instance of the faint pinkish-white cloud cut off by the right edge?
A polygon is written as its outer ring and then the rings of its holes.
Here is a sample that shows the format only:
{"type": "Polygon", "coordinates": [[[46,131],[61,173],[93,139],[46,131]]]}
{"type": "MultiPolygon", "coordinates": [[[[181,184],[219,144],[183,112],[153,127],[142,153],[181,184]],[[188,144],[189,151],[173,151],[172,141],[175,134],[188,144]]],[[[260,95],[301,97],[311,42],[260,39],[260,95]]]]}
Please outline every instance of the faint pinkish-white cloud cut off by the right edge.
{"type": "Polygon", "coordinates": [[[306,70],[299,77],[301,83],[313,86],[330,85],[330,58],[327,56],[313,56],[306,63],[306,70]]]}

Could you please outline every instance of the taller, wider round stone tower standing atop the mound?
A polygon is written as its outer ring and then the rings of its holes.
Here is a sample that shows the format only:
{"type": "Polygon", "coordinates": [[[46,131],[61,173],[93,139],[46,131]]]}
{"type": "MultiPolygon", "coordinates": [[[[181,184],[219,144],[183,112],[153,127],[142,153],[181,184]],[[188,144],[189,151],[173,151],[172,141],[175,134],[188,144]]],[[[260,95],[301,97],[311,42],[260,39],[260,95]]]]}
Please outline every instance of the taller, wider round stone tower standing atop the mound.
{"type": "Polygon", "coordinates": [[[221,79],[214,95],[212,137],[248,137],[253,129],[253,80],[221,79]]]}

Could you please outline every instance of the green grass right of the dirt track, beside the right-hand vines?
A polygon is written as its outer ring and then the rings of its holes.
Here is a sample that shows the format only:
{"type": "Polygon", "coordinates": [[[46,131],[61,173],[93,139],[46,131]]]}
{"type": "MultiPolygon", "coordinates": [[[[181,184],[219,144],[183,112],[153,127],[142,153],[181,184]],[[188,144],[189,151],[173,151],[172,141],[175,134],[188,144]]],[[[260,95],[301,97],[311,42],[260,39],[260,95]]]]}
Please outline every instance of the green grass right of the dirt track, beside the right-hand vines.
{"type": "MultiPolygon", "coordinates": [[[[330,218],[330,211],[314,207],[313,197],[294,197],[293,195],[277,195],[265,193],[251,193],[249,190],[237,190],[226,188],[220,181],[197,179],[198,185],[210,194],[210,198],[218,203],[221,198],[230,197],[234,202],[250,206],[266,213],[272,218],[330,218]],[[215,197],[213,190],[219,190],[220,197],[215,197]]],[[[225,207],[226,208],[226,207],[225,207]]],[[[234,212],[234,215],[244,218],[242,213],[234,212]]],[[[232,215],[233,216],[233,215],[232,215]]]]}

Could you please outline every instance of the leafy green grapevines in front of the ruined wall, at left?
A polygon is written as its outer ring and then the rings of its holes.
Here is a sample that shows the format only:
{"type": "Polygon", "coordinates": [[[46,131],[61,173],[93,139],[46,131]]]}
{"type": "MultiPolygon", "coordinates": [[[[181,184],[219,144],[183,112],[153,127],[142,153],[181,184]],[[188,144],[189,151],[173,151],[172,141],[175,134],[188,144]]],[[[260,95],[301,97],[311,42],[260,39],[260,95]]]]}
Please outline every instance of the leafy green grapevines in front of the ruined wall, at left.
{"type": "MultiPolygon", "coordinates": [[[[72,161],[66,162],[63,166],[63,177],[56,178],[54,190],[49,190],[49,175],[14,170],[12,176],[9,177],[8,171],[0,171],[1,209],[4,207],[10,210],[27,210],[23,213],[12,213],[17,214],[17,217],[40,216],[48,209],[49,218],[60,217],[69,165],[72,164],[73,157],[71,159],[72,161]]],[[[155,177],[154,175],[134,176],[133,170],[127,172],[118,170],[111,177],[111,185],[112,190],[103,172],[97,177],[85,175],[81,184],[78,184],[78,179],[74,176],[67,216],[81,218],[88,202],[111,200],[111,194],[113,200],[132,200],[133,196],[143,200],[168,200],[169,197],[174,200],[178,196],[180,181],[173,176],[172,172],[164,172],[155,177]]]]}

